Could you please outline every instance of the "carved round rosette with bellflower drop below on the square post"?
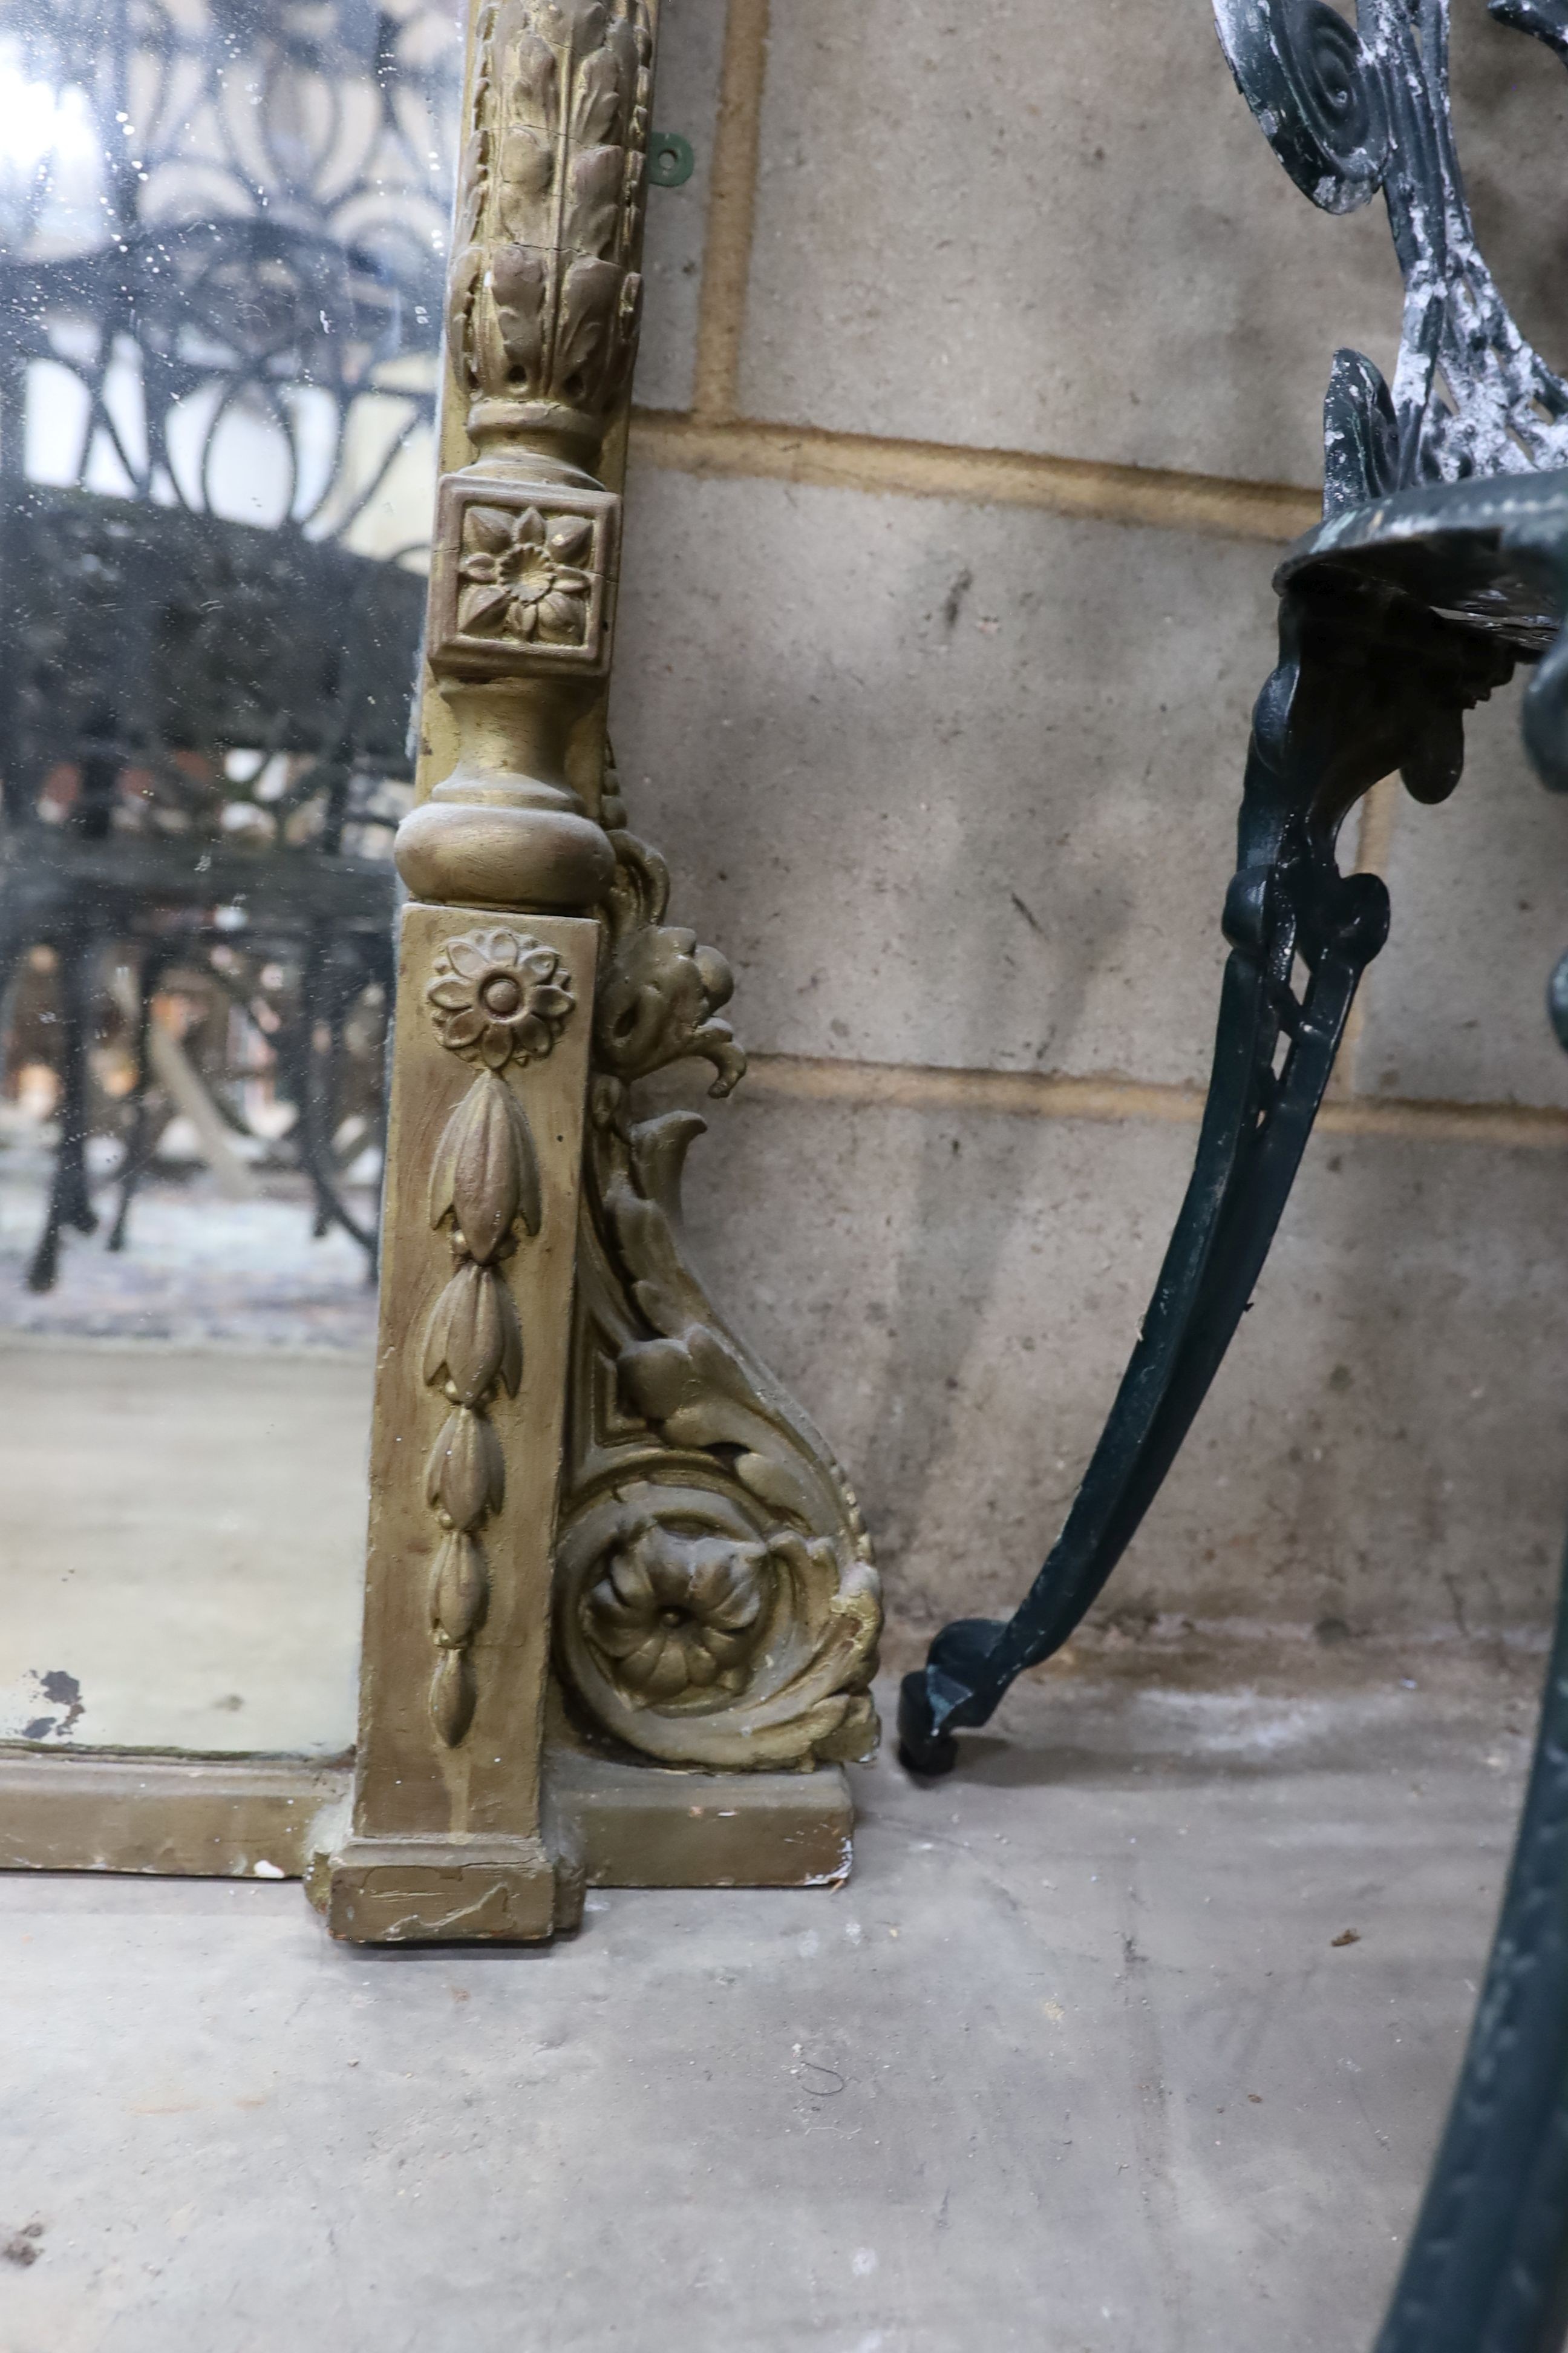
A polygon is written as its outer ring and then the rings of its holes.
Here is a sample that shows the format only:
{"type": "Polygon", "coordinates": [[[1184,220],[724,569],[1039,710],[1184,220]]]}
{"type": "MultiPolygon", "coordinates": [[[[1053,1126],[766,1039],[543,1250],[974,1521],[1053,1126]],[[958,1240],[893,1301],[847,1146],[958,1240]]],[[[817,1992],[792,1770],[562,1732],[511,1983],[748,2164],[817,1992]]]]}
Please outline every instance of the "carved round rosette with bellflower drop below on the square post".
{"type": "Polygon", "coordinates": [[[442,1529],[430,1577],[430,1720],[447,1748],[473,1722],[473,1638],[489,1605],[484,1525],[505,1501],[505,1457],[489,1419],[517,1395],[522,1327],[503,1266],[538,1233],[538,1155],[505,1073],[541,1061],[574,1009],[552,948],[505,927],[449,939],[425,998],[442,1045],[477,1066],[435,1148],[430,1226],[451,1245],[451,1273],[430,1313],[423,1379],[447,1400],[425,1466],[442,1529]]]}

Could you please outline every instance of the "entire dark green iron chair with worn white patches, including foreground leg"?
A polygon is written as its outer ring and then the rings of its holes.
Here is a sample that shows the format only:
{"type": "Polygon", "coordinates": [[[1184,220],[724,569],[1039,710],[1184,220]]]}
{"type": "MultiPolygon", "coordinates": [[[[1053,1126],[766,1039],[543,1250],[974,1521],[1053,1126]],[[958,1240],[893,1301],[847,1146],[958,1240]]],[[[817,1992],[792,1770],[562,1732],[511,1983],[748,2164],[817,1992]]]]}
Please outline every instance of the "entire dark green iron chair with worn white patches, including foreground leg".
{"type": "MultiPolygon", "coordinates": [[[[1526,744],[1568,791],[1568,386],[1509,318],[1474,240],[1448,113],[1448,0],[1215,0],[1241,92],[1295,184],[1349,212],[1382,191],[1406,282],[1394,388],[1340,351],[1324,525],[1281,562],[1279,668],[1253,713],[1229,962],[1187,1186],[1143,1334],[1034,1586],[961,1619],[905,1678],[900,1751],[950,1772],[1048,1659],[1150,1511],[1262,1273],[1385,885],[1342,875],[1352,805],[1399,769],[1460,781],[1465,711],[1535,664],[1526,744]]],[[[1566,0],[1490,0],[1568,61],[1566,0]]],[[[1568,1047],[1568,958],[1552,979],[1568,1047]]],[[[1568,1593],[1568,1584],[1566,1584],[1568,1593]]],[[[1568,2329],[1568,1600],[1476,2026],[1378,2353],[1547,2353],[1568,2329]]]]}

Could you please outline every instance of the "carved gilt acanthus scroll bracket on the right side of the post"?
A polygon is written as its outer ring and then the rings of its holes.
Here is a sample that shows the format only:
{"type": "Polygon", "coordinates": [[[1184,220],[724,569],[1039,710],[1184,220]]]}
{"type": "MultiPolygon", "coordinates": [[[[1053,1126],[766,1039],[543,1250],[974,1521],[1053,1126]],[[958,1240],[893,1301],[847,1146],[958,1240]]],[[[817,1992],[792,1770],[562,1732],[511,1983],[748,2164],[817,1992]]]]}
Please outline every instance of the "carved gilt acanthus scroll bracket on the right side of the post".
{"type": "MultiPolygon", "coordinates": [[[[607,816],[621,814],[607,798],[607,816]]],[[[882,1628],[844,1473],[726,1329],[679,1245],[689,1111],[637,1120],[630,1087],[745,1071],[717,1007],[731,976],[663,922],[663,861],[621,826],[595,1005],[555,1657],[599,1729],[665,1765],[809,1767],[867,1755],[882,1628]]]]}

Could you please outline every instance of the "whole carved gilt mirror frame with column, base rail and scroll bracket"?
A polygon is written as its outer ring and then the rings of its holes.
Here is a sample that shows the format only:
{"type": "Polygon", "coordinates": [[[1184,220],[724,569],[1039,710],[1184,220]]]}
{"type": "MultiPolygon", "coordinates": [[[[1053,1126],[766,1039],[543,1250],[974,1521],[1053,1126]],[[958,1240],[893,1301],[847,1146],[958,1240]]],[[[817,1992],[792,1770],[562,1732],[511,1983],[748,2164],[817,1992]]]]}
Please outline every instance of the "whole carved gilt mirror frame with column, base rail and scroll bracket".
{"type": "Polygon", "coordinates": [[[682,1257],[731,976],[607,741],[658,0],[477,0],[402,915],[360,1744],[0,1760],[0,1864],[303,1873],[355,1941],[550,1937],[588,1880],[842,1878],[877,1574],[682,1257]]]}

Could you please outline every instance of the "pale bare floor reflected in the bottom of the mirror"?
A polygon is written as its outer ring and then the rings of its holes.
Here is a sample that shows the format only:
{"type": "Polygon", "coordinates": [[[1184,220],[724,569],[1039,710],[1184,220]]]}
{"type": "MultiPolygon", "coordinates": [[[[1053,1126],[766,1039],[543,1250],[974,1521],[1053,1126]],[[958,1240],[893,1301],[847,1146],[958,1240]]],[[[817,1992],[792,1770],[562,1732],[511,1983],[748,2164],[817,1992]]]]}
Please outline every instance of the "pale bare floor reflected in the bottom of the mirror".
{"type": "Polygon", "coordinates": [[[369,1348],[0,1334],[0,1739],[348,1748],[369,1391],[369,1348]]]}

